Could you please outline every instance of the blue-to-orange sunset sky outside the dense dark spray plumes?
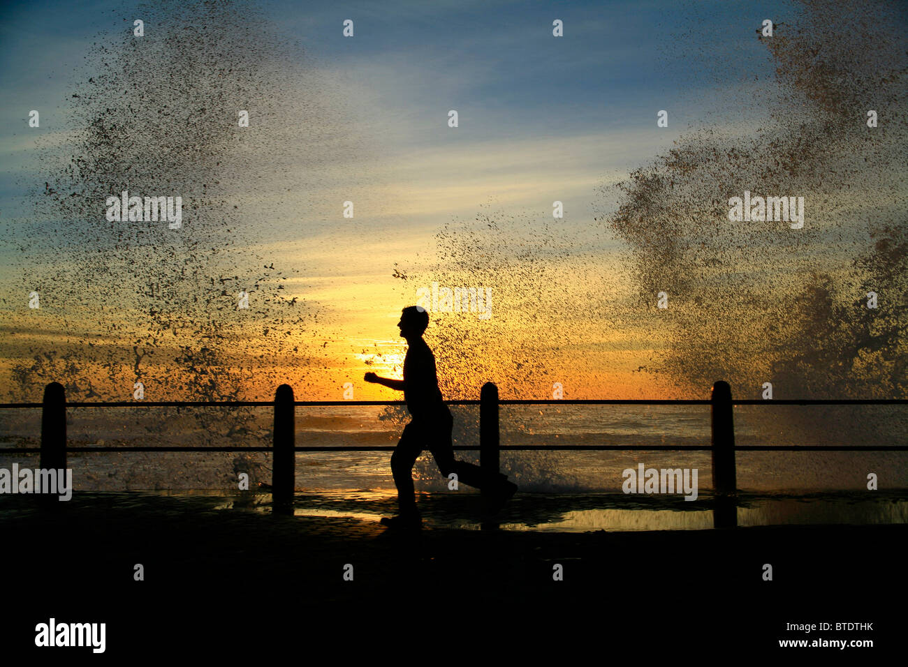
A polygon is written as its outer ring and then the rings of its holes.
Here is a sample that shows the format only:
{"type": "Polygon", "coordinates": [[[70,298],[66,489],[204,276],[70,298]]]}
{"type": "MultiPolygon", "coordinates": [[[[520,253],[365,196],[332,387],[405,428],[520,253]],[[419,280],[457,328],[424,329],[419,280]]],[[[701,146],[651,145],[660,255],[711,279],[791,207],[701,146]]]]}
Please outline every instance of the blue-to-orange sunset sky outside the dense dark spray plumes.
{"type": "MultiPolygon", "coordinates": [[[[155,15],[112,11],[119,5],[9,4],[0,21],[0,378],[10,378],[22,359],[64,344],[83,348],[67,372],[93,378],[106,363],[95,358],[97,346],[119,348],[122,385],[93,380],[94,391],[111,400],[131,394],[135,340],[102,323],[119,319],[141,330],[147,303],[135,302],[114,271],[104,295],[89,289],[79,299],[63,298],[45,280],[42,309],[28,309],[28,292],[37,289],[30,276],[35,284],[38,276],[65,282],[84,264],[85,255],[71,250],[91,250],[108,224],[100,201],[93,220],[40,219],[29,189],[53,181],[38,142],[53,150],[73,136],[72,95],[92,75],[80,68],[98,49],[96,35],[121,40],[121,14],[155,15]],[[32,109],[41,113],[39,128],[28,126],[32,109]],[[92,240],[84,241],[89,227],[92,240]],[[84,342],[90,334],[91,348],[84,342]]],[[[602,189],[692,129],[753,132],[765,120],[765,107],[754,101],[774,90],[775,66],[756,31],[787,6],[262,3],[273,34],[301,46],[299,64],[309,77],[282,93],[288,101],[317,96],[319,108],[297,105],[299,117],[285,126],[270,119],[268,142],[253,138],[248,153],[224,152],[231,169],[219,185],[225,208],[238,211],[240,236],[219,261],[226,271],[232,260],[255,256],[283,270],[281,297],[297,297],[307,320],[282,348],[296,348],[295,358],[269,358],[264,320],[241,321],[236,313],[224,320],[239,342],[222,349],[222,358],[271,368],[245,374],[242,395],[267,399],[275,378],[287,378],[301,399],[340,398],[348,381],[357,398],[399,397],[362,383],[362,373],[400,377],[400,309],[438,281],[492,294],[489,320],[432,315],[427,340],[446,397],[477,397],[488,379],[505,397],[550,397],[554,382],[564,384],[566,397],[706,397],[708,387],[676,387],[672,378],[640,372],[666,345],[657,320],[665,313],[655,296],[643,306],[635,301],[622,243],[601,223],[617,195],[602,189]],[[345,19],[354,21],[352,38],[341,34],[345,19]],[[563,37],[553,37],[554,19],[564,22],[563,37]],[[457,128],[448,126],[451,109],[457,128]],[[662,109],[667,128],[656,126],[662,109]],[[309,113],[322,124],[307,126],[309,113]],[[282,153],[271,159],[275,145],[282,153]],[[352,220],[343,218],[344,201],[354,202],[352,220]],[[563,219],[553,219],[553,201],[563,202],[563,219]]],[[[146,21],[149,37],[157,28],[146,21]]],[[[115,51],[113,39],[108,45],[115,51]]],[[[162,93],[136,104],[165,102],[179,101],[162,93]]],[[[252,100],[250,108],[268,102],[252,100]]],[[[248,136],[258,117],[253,111],[248,136]]],[[[192,214],[184,212],[183,230],[171,233],[192,238],[192,214]]],[[[105,242],[98,242],[102,256],[105,242]]],[[[117,255],[123,266],[160,268],[152,250],[125,252],[117,255]]],[[[176,343],[162,345],[173,353],[176,343]]],[[[146,382],[173,371],[164,356],[145,359],[152,365],[146,373],[161,364],[146,382]]],[[[35,375],[32,399],[44,379],[35,375]]]]}

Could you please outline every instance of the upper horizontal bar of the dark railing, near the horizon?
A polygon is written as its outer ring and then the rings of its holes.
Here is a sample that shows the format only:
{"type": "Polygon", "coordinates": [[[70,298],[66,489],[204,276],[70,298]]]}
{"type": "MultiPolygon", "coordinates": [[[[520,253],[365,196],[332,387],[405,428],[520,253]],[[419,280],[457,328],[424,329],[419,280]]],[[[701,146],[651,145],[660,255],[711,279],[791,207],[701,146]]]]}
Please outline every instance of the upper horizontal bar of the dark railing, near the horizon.
{"type": "MultiPolygon", "coordinates": [[[[478,406],[479,400],[455,399],[445,401],[449,406],[478,406]]],[[[603,405],[638,405],[638,406],[708,406],[709,400],[694,398],[514,398],[498,401],[502,406],[603,406],[603,405]]],[[[889,406],[908,404],[906,398],[780,398],[764,400],[747,398],[733,400],[733,406],[889,406]]],[[[405,401],[294,401],[294,406],[404,406],[405,401]]],[[[44,407],[44,403],[0,403],[0,408],[35,408],[44,407]]],[[[66,407],[274,407],[274,401],[112,401],[85,402],[73,401],[66,407]]]]}

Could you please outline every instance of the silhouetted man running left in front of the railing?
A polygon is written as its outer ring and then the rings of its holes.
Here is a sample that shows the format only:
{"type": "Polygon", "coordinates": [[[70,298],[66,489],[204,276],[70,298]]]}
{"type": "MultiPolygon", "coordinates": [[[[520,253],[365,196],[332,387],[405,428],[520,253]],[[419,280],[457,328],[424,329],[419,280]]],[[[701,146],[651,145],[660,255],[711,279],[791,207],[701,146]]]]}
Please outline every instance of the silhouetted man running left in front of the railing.
{"type": "Polygon", "coordinates": [[[435,369],[435,356],[422,339],[429,326],[429,313],[419,306],[408,306],[400,314],[400,336],[407,340],[407,356],[403,360],[403,379],[379,378],[375,373],[366,373],[366,382],[374,382],[403,392],[407,408],[412,417],[403,429],[400,442],[391,455],[391,474],[398,489],[400,515],[384,517],[381,523],[390,527],[419,528],[422,518],[416,507],[413,478],[410,472],[422,453],[429,449],[435,457],[441,474],[455,473],[458,482],[491,490],[491,508],[499,509],[517,492],[517,485],[508,482],[508,477],[498,474],[489,476],[479,466],[454,458],[451,445],[451,429],[454,419],[445,405],[439,390],[439,378],[435,369]]]}

